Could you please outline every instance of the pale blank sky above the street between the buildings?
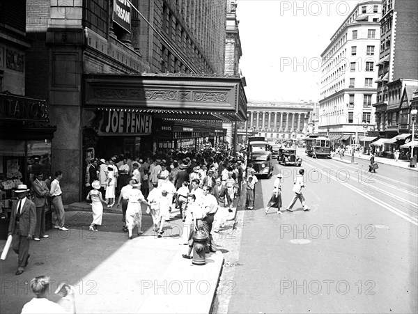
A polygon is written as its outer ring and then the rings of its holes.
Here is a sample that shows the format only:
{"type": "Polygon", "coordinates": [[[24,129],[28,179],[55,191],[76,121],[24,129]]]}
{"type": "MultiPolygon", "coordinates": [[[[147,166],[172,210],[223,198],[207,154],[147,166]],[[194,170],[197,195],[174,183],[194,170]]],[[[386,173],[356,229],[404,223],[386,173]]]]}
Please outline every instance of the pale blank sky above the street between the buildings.
{"type": "Polygon", "coordinates": [[[248,101],[320,99],[320,54],[359,1],[238,0],[248,101]]]}

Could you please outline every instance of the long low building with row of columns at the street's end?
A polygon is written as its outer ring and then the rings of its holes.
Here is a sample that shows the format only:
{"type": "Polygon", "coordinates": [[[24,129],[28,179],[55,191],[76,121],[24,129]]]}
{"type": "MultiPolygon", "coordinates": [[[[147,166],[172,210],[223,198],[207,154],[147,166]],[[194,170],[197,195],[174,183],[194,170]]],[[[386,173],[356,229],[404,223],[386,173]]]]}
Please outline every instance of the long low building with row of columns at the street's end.
{"type": "Polygon", "coordinates": [[[314,102],[248,102],[247,121],[238,123],[238,143],[248,136],[264,136],[267,141],[301,139],[315,133],[309,128],[314,102]]]}

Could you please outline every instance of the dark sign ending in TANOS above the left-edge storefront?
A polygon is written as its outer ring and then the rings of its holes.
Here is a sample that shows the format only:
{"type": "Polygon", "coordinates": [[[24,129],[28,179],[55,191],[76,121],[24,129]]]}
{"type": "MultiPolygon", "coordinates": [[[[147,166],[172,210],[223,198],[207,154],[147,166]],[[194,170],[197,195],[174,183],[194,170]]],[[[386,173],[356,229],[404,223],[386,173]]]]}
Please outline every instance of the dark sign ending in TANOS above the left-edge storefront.
{"type": "Polygon", "coordinates": [[[49,122],[47,102],[0,93],[0,120],[49,122]]]}

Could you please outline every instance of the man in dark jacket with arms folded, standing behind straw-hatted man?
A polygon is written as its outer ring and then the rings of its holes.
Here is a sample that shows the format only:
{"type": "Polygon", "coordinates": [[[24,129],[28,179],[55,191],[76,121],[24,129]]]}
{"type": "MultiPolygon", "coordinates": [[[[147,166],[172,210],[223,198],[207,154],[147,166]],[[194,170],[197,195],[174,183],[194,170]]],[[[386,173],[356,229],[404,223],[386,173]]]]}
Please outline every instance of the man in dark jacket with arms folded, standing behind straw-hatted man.
{"type": "Polygon", "coordinates": [[[49,235],[45,235],[45,207],[47,206],[49,189],[42,179],[42,171],[36,173],[36,180],[33,181],[31,187],[36,206],[36,228],[33,235],[35,241],[40,241],[40,237],[49,237],[49,235]]]}

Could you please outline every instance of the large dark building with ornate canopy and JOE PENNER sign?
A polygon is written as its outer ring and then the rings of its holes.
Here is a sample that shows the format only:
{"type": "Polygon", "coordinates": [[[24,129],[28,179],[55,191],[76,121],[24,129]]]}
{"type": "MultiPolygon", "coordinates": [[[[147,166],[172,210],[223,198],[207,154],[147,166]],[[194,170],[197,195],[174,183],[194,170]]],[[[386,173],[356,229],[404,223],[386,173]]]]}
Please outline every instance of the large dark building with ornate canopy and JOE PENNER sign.
{"type": "Polygon", "coordinates": [[[245,120],[242,81],[224,76],[227,1],[131,2],[26,1],[26,91],[58,125],[65,203],[90,157],[217,143],[245,120]]]}

